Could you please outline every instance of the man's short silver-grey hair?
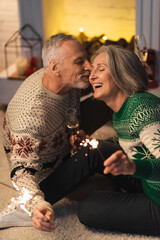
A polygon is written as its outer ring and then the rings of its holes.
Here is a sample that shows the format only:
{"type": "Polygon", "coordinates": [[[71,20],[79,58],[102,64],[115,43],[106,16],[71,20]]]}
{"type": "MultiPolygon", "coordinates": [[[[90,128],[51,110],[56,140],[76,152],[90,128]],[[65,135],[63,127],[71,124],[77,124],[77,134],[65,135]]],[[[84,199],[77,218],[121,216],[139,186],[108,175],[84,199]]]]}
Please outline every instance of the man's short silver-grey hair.
{"type": "Polygon", "coordinates": [[[78,40],[74,36],[64,33],[55,34],[45,42],[42,49],[42,60],[44,68],[48,68],[50,61],[58,57],[61,44],[64,41],[68,40],[78,42],[78,40]]]}

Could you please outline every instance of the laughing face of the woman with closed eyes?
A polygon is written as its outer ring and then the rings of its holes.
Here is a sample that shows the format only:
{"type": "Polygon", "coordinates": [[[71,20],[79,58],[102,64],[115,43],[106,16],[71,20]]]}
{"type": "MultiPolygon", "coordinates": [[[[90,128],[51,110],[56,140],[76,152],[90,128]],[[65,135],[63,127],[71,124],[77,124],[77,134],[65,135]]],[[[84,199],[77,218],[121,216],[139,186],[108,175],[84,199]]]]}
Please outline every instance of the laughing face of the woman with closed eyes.
{"type": "Polygon", "coordinates": [[[90,84],[94,90],[94,98],[108,102],[114,99],[120,91],[113,80],[107,65],[107,54],[99,54],[93,61],[90,84]]]}

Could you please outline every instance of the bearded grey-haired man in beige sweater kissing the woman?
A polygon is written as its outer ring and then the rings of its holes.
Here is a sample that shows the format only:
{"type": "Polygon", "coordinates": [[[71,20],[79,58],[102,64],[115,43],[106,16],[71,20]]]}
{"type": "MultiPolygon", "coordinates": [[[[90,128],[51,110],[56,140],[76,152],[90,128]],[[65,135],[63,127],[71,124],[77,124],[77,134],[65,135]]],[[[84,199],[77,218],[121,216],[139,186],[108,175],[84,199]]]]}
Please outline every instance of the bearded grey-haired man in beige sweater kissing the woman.
{"type": "Polygon", "coordinates": [[[4,119],[11,179],[19,193],[25,188],[31,194],[24,207],[32,219],[11,204],[0,214],[0,228],[32,224],[54,231],[52,204],[103,166],[89,148],[70,156],[66,110],[78,109],[80,89],[89,86],[84,49],[73,36],[57,34],[45,43],[42,58],[44,68],[24,81],[4,119]]]}

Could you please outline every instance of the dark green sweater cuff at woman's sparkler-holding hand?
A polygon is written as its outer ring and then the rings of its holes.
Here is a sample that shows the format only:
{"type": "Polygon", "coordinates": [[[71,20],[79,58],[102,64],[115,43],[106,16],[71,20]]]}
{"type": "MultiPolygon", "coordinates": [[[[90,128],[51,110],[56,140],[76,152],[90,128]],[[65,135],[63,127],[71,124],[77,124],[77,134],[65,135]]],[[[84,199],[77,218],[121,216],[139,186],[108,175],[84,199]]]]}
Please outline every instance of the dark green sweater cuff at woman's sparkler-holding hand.
{"type": "Polygon", "coordinates": [[[152,173],[152,163],[149,160],[133,160],[136,165],[136,171],[133,176],[147,179],[152,173]]]}

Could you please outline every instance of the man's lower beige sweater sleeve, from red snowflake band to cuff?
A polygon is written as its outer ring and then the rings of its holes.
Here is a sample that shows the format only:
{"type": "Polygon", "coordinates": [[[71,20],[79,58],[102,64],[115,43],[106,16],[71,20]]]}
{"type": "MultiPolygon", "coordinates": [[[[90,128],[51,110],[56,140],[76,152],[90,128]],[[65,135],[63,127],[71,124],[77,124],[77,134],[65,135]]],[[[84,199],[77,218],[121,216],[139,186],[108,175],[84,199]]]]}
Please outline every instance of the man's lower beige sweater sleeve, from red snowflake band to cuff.
{"type": "Polygon", "coordinates": [[[38,185],[38,172],[43,175],[43,165],[38,154],[42,142],[29,134],[11,132],[10,137],[11,179],[18,192],[24,188],[30,192],[32,198],[25,204],[27,211],[32,215],[39,206],[52,209],[44,200],[44,194],[38,185]]]}

